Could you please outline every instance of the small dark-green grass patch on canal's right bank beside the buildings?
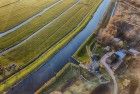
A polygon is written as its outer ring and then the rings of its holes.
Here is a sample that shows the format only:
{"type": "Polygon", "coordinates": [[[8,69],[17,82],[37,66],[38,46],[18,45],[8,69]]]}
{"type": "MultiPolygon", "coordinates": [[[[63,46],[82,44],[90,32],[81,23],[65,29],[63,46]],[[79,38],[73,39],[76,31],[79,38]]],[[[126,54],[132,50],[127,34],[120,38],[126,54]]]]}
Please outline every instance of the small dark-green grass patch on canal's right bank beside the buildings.
{"type": "Polygon", "coordinates": [[[93,54],[99,54],[102,55],[103,53],[103,48],[100,44],[97,43],[95,37],[96,37],[97,31],[95,31],[80,47],[79,49],[75,52],[73,57],[78,60],[79,62],[86,64],[89,63],[89,55],[86,50],[86,46],[90,46],[90,50],[94,50],[93,54]]]}

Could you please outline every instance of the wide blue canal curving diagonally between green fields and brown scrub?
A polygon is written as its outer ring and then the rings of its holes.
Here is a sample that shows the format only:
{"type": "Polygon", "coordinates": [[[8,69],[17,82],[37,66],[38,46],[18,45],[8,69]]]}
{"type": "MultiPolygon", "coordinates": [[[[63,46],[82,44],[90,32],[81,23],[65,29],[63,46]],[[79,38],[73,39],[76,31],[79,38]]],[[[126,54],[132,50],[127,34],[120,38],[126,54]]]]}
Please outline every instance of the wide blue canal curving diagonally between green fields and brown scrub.
{"type": "Polygon", "coordinates": [[[20,81],[17,85],[9,89],[8,94],[33,94],[44,83],[63,68],[69,61],[71,56],[76,52],[80,45],[95,31],[103,20],[111,0],[103,0],[100,7],[97,9],[93,18],[88,25],[73,38],[65,47],[51,59],[44,62],[44,64],[33,73],[29,74],[25,79],[20,81]]]}

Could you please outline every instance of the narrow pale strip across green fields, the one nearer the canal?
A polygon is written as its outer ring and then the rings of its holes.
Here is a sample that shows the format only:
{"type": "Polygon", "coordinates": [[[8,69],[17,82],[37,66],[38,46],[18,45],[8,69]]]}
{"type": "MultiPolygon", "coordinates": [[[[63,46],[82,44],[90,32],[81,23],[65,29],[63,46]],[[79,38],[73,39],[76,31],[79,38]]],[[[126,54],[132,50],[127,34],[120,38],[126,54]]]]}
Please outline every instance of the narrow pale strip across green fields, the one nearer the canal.
{"type": "Polygon", "coordinates": [[[47,25],[45,25],[44,27],[42,27],[40,30],[38,30],[37,32],[35,32],[34,34],[32,34],[31,36],[29,36],[28,38],[26,38],[25,40],[23,40],[22,42],[20,42],[19,44],[7,49],[4,52],[1,52],[0,55],[5,54],[7,52],[9,52],[10,50],[22,45],[23,43],[25,43],[26,41],[28,41],[29,39],[31,39],[33,36],[37,35],[39,32],[41,32],[42,30],[44,30],[47,26],[49,26],[50,24],[52,24],[54,21],[58,20],[63,14],[65,14],[68,10],[70,10],[71,8],[73,8],[74,6],[76,6],[78,3],[80,2],[80,0],[77,0],[77,2],[72,5],[69,9],[67,9],[65,12],[63,12],[61,15],[59,15],[57,18],[55,18],[54,20],[52,20],[50,23],[48,23],[47,25]]]}

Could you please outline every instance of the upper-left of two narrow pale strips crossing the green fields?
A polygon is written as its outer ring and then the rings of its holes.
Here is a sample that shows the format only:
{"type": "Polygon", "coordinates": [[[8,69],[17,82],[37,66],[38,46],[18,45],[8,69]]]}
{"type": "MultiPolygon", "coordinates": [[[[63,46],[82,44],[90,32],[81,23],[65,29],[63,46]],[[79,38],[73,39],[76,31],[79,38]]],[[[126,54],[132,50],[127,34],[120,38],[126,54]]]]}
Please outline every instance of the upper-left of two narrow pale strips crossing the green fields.
{"type": "Polygon", "coordinates": [[[49,6],[49,7],[45,8],[45,9],[43,9],[43,11],[41,11],[41,12],[39,12],[38,14],[32,16],[31,18],[29,18],[28,20],[24,21],[23,23],[17,25],[16,27],[14,27],[14,28],[12,28],[12,29],[6,31],[6,32],[0,33],[0,37],[3,37],[3,36],[5,36],[5,35],[7,35],[7,34],[9,34],[9,33],[11,33],[11,32],[16,31],[17,29],[19,29],[19,28],[22,27],[23,25],[29,23],[30,21],[32,21],[32,20],[35,19],[36,17],[38,17],[38,16],[44,14],[47,10],[49,10],[50,8],[52,8],[53,6],[55,6],[56,4],[58,4],[58,3],[61,2],[61,1],[63,1],[63,0],[60,0],[60,1],[58,1],[58,2],[56,2],[56,3],[54,3],[54,4],[52,4],[51,6],[49,6]]]}

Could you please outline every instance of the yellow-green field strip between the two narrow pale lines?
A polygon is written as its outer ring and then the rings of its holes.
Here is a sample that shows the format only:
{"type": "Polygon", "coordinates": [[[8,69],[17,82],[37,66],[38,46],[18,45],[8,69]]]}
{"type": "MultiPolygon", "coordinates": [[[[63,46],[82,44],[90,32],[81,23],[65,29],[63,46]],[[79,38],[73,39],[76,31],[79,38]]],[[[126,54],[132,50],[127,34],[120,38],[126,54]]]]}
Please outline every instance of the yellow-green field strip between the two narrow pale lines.
{"type": "Polygon", "coordinates": [[[0,51],[18,44],[33,33],[37,32],[42,27],[60,16],[63,12],[67,11],[75,3],[76,0],[64,0],[59,2],[54,7],[50,8],[47,12],[41,16],[36,17],[31,22],[27,23],[16,31],[4,37],[0,37],[0,51]]]}

